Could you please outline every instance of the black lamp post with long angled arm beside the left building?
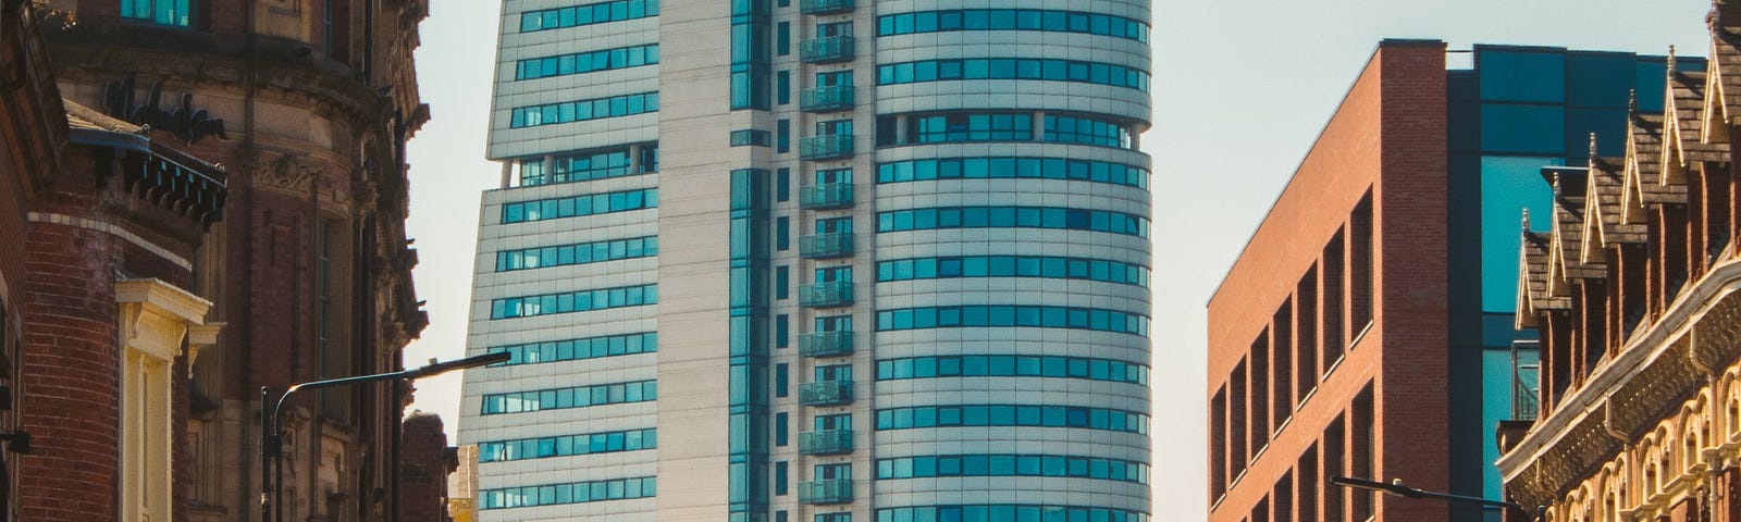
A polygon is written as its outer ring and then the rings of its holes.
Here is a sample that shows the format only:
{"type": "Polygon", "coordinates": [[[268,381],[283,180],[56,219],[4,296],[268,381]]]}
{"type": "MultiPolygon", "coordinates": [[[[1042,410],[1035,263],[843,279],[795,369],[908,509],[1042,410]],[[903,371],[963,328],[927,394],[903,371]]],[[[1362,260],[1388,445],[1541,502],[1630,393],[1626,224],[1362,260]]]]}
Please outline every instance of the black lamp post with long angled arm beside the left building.
{"type": "MultiPolygon", "coordinates": [[[[280,426],[280,412],[284,404],[301,390],[313,388],[333,388],[357,383],[374,383],[374,381],[413,381],[418,378],[437,376],[451,372],[456,369],[468,369],[479,365],[489,365],[498,362],[507,362],[512,355],[507,351],[474,355],[467,358],[456,358],[449,362],[434,362],[420,369],[407,369],[397,372],[373,374],[373,376],[355,376],[341,379],[326,379],[292,385],[279,395],[277,404],[266,409],[266,400],[272,395],[272,388],[259,386],[259,520],[284,520],[284,433],[280,426]]],[[[397,433],[397,432],[395,432],[397,433]]],[[[397,435],[395,435],[397,437],[397,435]]]]}

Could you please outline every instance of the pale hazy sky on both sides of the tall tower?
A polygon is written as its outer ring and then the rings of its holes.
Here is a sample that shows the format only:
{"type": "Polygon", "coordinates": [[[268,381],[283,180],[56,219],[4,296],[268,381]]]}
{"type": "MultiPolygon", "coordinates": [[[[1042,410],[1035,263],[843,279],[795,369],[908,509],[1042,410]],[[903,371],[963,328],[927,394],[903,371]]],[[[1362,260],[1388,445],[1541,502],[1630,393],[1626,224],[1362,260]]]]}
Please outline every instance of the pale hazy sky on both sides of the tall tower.
{"type": "MultiPolygon", "coordinates": [[[[409,144],[418,298],[430,325],[406,365],[465,355],[498,0],[430,2],[418,80],[434,118],[409,144]]],[[[977,2],[970,2],[977,3],[977,2]]],[[[1704,56],[1708,0],[1156,0],[1154,520],[1207,513],[1203,306],[1382,38],[1704,56]]],[[[416,383],[413,409],[458,433],[460,376],[416,383]]]]}

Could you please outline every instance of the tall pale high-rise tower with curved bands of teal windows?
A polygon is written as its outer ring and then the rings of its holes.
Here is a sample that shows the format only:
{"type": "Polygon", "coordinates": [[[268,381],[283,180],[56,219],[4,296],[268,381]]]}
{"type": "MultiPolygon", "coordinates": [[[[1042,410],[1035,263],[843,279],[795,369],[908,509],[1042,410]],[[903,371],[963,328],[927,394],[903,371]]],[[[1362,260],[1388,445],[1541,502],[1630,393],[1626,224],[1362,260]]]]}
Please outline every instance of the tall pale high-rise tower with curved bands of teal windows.
{"type": "Polygon", "coordinates": [[[1149,2],[503,2],[481,520],[1149,520],[1149,2]]]}

